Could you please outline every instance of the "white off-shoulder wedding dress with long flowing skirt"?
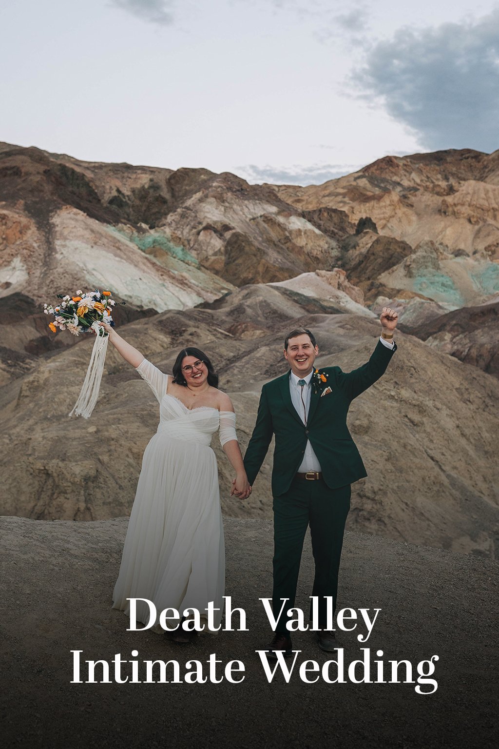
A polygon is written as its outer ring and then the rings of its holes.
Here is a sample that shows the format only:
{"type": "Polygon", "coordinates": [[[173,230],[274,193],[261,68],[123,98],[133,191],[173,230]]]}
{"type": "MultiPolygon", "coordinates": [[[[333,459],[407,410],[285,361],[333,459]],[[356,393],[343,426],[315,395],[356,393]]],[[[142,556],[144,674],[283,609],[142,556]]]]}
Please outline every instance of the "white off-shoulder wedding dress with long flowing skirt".
{"type": "MultiPolygon", "coordinates": [[[[217,463],[209,445],[218,428],[222,444],[236,439],[236,416],[207,406],[189,410],[167,394],[168,375],[147,360],[137,372],[159,401],[159,426],[144,451],[113,608],[128,615],[127,598],[147,598],[159,619],[171,607],[181,616],[187,607],[203,615],[213,601],[218,627],[224,604],[224,530],[217,463]]],[[[137,620],[147,624],[149,619],[149,606],[137,601],[137,620]]],[[[163,631],[157,619],[151,631],[163,631]]]]}

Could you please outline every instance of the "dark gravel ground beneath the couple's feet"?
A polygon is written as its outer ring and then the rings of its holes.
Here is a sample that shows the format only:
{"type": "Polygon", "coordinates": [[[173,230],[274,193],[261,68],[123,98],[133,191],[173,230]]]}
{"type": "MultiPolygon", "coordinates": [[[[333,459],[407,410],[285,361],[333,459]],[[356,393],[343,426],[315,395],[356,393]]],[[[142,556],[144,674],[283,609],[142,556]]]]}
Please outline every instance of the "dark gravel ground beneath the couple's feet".
{"type": "MultiPolygon", "coordinates": [[[[110,608],[126,524],[126,518],[0,518],[4,747],[498,745],[496,562],[347,533],[339,607],[382,609],[364,645],[372,660],[382,649],[385,664],[405,658],[415,672],[420,661],[438,655],[437,691],[421,695],[414,684],[328,684],[322,678],[308,685],[296,670],[289,683],[281,674],[269,683],[255,650],[269,640],[259,598],[270,595],[272,524],[224,521],[226,595],[245,609],[249,631],[198,637],[186,646],[127,632],[128,619],[110,608]],[[174,658],[182,679],[186,661],[204,665],[216,653],[222,666],[242,661],[245,679],[71,684],[73,649],[83,651],[82,661],[111,661],[117,652],[128,660],[132,649],[138,660],[174,658]]],[[[311,562],[307,542],[296,601],[304,610],[311,562]]],[[[363,655],[357,634],[338,635],[346,664],[363,655]]],[[[336,657],[319,651],[309,632],[294,635],[293,646],[300,651],[297,667],[306,659],[322,665],[336,657]]]]}

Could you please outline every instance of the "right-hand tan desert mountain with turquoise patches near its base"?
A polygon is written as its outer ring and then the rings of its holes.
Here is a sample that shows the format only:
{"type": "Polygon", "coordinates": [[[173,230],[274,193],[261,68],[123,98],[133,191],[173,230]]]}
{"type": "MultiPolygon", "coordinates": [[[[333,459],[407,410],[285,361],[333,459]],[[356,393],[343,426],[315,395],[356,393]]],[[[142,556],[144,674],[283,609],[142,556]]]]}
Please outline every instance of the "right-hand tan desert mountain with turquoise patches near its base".
{"type": "Polygon", "coordinates": [[[499,291],[499,151],[385,157],[320,186],[275,190],[357,225],[338,264],[369,303],[420,297],[457,309],[499,291]]]}

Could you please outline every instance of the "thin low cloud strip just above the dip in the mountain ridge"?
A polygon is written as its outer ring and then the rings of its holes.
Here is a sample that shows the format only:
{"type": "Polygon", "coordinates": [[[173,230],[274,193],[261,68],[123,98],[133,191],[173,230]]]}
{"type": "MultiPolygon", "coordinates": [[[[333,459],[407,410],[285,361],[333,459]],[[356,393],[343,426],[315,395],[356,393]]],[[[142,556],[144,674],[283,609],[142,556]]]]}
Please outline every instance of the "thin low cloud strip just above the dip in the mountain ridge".
{"type": "Polygon", "coordinates": [[[238,166],[237,174],[252,184],[310,185],[322,184],[361,169],[360,164],[313,164],[313,166],[238,166]]]}

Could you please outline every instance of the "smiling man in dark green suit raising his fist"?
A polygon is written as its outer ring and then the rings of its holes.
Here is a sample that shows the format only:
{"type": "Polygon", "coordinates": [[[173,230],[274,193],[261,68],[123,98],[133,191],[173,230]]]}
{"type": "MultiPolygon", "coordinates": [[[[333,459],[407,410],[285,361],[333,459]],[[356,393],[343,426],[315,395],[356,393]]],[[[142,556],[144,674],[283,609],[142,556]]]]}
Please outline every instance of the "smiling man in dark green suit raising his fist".
{"type": "Polygon", "coordinates": [[[274,658],[278,650],[285,656],[292,652],[287,610],[295,604],[301,549],[309,525],[315,560],[312,595],[318,597],[322,628],[317,642],[326,651],[338,647],[334,633],[325,629],[326,598],[330,597],[334,610],[350,485],[367,476],[346,415],[353,398],[383,375],[397,348],[393,341],[397,312],[384,307],[380,321],[382,336],[370,360],[353,372],[342,372],[340,367],[314,369],[319,348],[313,334],[305,328],[292,330],[284,342],[290,372],[262,389],[244,463],[253,484],[275,434],[272,607],[278,623],[267,646],[274,658]]]}

